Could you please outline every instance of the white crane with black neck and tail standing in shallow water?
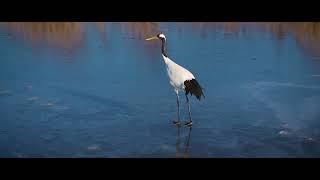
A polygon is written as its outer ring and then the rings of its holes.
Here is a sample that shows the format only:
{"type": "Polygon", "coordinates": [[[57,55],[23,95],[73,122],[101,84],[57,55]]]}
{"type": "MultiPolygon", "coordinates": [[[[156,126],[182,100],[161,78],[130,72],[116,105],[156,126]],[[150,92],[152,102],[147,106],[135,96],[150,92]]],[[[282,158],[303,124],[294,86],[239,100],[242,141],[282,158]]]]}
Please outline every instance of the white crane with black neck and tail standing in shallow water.
{"type": "Polygon", "coordinates": [[[182,66],[178,65],[177,63],[173,62],[167,55],[165,44],[166,44],[166,37],[164,34],[158,34],[156,36],[150,37],[146,39],[147,41],[159,39],[161,40],[161,53],[164,60],[164,63],[167,66],[167,72],[170,79],[170,84],[173,86],[174,91],[177,95],[177,107],[178,107],[178,121],[173,121],[173,123],[177,126],[181,125],[180,122],[180,110],[179,110],[179,92],[185,92],[187,105],[189,110],[189,122],[185,125],[192,126],[192,119],[191,119],[191,111],[190,111],[190,103],[188,94],[190,93],[191,96],[194,94],[196,98],[200,101],[201,96],[205,97],[202,91],[202,87],[194,77],[194,75],[188,71],[187,69],[183,68],[182,66]]]}

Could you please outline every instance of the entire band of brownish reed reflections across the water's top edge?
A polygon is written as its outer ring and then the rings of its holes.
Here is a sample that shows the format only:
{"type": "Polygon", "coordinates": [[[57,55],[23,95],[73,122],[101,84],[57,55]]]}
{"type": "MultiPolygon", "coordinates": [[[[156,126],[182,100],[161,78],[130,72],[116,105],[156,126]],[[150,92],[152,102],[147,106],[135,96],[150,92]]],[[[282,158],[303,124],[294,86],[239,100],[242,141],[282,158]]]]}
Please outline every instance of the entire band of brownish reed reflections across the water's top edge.
{"type": "MultiPolygon", "coordinates": [[[[73,49],[79,47],[84,39],[85,25],[83,22],[9,22],[0,23],[15,36],[21,36],[33,43],[46,41],[50,45],[60,48],[73,49]]],[[[157,22],[120,22],[123,32],[128,38],[143,39],[147,36],[159,33],[160,23],[157,22]]],[[[96,22],[103,38],[105,36],[105,23],[96,22]]],[[[320,23],[319,22],[192,22],[177,23],[179,30],[183,26],[190,26],[200,31],[202,37],[206,37],[212,29],[222,29],[227,34],[237,34],[241,31],[249,31],[252,28],[260,29],[275,35],[279,40],[291,33],[298,44],[309,54],[320,56],[320,23]]]]}

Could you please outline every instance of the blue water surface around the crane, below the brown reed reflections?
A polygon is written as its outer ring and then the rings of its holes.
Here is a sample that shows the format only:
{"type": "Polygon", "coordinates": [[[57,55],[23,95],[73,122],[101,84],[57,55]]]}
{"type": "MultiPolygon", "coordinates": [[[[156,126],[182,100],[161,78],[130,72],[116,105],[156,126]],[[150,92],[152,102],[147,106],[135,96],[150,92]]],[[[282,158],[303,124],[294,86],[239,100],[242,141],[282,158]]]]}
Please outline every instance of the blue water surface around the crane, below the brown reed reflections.
{"type": "Polygon", "coordinates": [[[160,43],[143,40],[153,34],[105,28],[103,39],[88,25],[67,55],[0,29],[0,157],[320,156],[320,61],[290,33],[161,23],[169,57],[205,89],[190,131],[172,125],[160,43]]]}

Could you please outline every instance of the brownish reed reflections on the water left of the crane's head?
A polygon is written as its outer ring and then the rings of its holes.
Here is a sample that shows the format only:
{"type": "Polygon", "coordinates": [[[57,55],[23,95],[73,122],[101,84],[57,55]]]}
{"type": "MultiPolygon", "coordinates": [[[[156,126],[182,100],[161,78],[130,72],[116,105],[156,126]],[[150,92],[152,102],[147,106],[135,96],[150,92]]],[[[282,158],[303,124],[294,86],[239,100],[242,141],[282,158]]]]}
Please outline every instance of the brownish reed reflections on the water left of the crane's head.
{"type": "MultiPolygon", "coordinates": [[[[8,22],[0,23],[14,36],[22,37],[33,44],[46,42],[59,48],[73,49],[82,45],[85,28],[89,23],[84,22],[8,22]]],[[[105,23],[92,23],[105,39],[105,23]]],[[[121,22],[122,31],[134,38],[145,38],[147,35],[159,33],[159,23],[156,22],[121,22]]]]}

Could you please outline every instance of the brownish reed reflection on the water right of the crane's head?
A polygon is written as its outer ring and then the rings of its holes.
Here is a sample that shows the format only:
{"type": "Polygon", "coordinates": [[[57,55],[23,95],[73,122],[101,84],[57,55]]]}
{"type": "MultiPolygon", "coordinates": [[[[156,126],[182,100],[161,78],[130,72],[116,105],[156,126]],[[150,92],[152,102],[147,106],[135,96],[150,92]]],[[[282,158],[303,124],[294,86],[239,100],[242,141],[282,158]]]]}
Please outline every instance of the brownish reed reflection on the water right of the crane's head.
{"type": "Polygon", "coordinates": [[[178,25],[191,25],[202,34],[207,34],[212,29],[237,34],[255,28],[273,34],[278,40],[291,33],[309,55],[320,56],[319,22],[193,22],[178,25]]]}

